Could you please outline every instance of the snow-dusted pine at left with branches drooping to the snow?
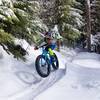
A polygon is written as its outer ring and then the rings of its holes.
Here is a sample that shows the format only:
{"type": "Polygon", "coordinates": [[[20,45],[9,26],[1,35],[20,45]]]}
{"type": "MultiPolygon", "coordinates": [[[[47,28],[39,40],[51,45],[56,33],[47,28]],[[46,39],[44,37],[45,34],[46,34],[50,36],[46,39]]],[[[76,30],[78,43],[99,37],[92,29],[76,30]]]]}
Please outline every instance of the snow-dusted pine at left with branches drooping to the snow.
{"type": "Polygon", "coordinates": [[[15,38],[34,42],[44,27],[38,17],[39,3],[36,1],[0,0],[0,45],[14,57],[24,59],[26,51],[15,44],[15,38]],[[41,25],[41,26],[40,26],[41,25]],[[24,54],[23,54],[23,52],[24,54]]]}

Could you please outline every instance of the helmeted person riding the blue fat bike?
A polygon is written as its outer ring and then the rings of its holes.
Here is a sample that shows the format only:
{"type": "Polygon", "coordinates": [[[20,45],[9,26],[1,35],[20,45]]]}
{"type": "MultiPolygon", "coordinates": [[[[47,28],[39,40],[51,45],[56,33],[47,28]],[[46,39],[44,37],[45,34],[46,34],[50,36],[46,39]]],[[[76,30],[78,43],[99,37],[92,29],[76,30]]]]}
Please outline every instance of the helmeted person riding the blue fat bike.
{"type": "Polygon", "coordinates": [[[50,58],[51,61],[54,60],[54,52],[53,50],[56,48],[57,45],[57,40],[58,39],[62,39],[62,37],[60,36],[59,33],[57,33],[56,31],[52,31],[52,32],[46,32],[44,33],[44,42],[42,42],[42,44],[39,42],[39,46],[36,46],[34,49],[38,49],[39,47],[45,46],[45,50],[49,52],[50,54],[50,58]]]}

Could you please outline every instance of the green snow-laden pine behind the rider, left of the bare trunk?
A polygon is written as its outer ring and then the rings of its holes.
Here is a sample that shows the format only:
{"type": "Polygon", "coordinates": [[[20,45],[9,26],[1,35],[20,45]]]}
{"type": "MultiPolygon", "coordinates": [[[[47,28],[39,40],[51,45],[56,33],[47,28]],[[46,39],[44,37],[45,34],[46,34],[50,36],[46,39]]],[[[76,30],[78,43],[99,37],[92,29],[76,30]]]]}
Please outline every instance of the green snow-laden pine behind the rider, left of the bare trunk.
{"type": "Polygon", "coordinates": [[[62,0],[58,3],[57,23],[61,33],[64,33],[63,36],[70,45],[74,45],[75,40],[78,39],[83,25],[82,11],[77,6],[79,6],[79,3],[74,0],[62,0]]]}

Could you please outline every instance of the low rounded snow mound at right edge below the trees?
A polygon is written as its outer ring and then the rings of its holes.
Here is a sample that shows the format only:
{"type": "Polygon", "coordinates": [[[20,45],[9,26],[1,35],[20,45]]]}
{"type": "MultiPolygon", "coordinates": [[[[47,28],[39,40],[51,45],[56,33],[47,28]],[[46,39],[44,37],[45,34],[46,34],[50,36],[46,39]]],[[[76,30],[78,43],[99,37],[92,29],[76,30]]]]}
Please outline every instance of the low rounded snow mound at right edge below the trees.
{"type": "Polygon", "coordinates": [[[73,63],[87,68],[100,68],[100,55],[82,52],[73,60],[73,63]]]}

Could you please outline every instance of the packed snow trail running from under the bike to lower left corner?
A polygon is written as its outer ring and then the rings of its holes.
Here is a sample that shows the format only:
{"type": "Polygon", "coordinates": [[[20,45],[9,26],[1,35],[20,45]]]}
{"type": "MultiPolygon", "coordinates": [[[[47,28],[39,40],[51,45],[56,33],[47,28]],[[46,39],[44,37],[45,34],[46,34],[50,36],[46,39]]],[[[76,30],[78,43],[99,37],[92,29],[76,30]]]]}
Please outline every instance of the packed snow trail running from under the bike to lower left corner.
{"type": "MultiPolygon", "coordinates": [[[[36,81],[36,83],[30,82],[31,84],[24,88],[22,88],[22,86],[20,86],[20,85],[22,85],[21,83],[19,85],[16,82],[16,83],[12,84],[11,86],[10,86],[10,84],[8,84],[7,87],[3,88],[4,91],[2,91],[2,93],[1,93],[0,100],[31,100],[35,96],[37,96],[41,92],[43,92],[45,89],[52,86],[60,78],[62,78],[64,73],[65,73],[65,71],[63,69],[58,70],[58,71],[50,74],[50,76],[47,77],[46,79],[41,79],[41,80],[38,80],[38,78],[37,78],[37,80],[35,79],[34,82],[36,81]],[[15,85],[16,88],[18,89],[17,91],[15,91],[15,87],[13,85],[15,85]],[[20,89],[18,88],[18,85],[19,85],[20,89]]],[[[23,78],[23,79],[25,80],[25,78],[23,78]]],[[[9,80],[7,80],[7,81],[9,81],[9,80]]],[[[13,81],[15,81],[15,80],[13,79],[13,81]]],[[[27,79],[27,81],[28,81],[28,79],[27,79]]],[[[29,81],[30,81],[30,79],[29,79],[29,81]]],[[[33,81],[33,79],[32,79],[32,81],[33,81]]],[[[10,83],[13,83],[13,82],[10,82],[10,83]]],[[[25,82],[25,84],[26,84],[26,82],[25,82]]]]}

